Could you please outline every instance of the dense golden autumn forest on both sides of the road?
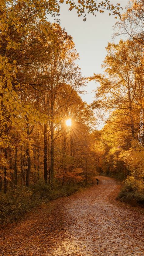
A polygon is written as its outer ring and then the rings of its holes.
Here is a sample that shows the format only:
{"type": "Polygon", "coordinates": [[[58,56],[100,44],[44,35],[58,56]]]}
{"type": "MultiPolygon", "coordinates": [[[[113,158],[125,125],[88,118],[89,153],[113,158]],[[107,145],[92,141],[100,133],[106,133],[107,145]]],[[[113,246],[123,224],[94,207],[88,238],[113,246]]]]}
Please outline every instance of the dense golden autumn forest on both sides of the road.
{"type": "Polygon", "coordinates": [[[143,202],[142,1],[130,1],[122,16],[119,4],[93,2],[66,3],[84,21],[86,10],[120,17],[114,36],[125,39],[108,44],[105,74],[89,78],[77,65],[73,38],[58,19],[47,19],[63,1],[0,3],[2,223],[70,195],[98,173],[124,181],[119,198],[143,202]],[[80,94],[89,80],[99,86],[88,105],[80,94]]]}

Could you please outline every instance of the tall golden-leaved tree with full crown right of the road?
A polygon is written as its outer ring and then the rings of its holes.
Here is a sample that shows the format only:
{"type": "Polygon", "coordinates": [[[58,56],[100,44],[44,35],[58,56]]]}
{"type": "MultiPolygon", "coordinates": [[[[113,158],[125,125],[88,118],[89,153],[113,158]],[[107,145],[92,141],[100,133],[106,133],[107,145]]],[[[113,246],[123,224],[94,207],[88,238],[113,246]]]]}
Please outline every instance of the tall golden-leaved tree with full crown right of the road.
{"type": "Polygon", "coordinates": [[[119,44],[109,43],[106,49],[105,74],[94,74],[92,78],[100,84],[92,107],[104,111],[106,116],[101,131],[99,166],[107,175],[126,179],[126,191],[131,189],[140,193],[141,202],[143,146],[142,143],[139,145],[138,134],[144,96],[143,46],[139,40],[130,37],[126,41],[120,40],[119,44]]]}

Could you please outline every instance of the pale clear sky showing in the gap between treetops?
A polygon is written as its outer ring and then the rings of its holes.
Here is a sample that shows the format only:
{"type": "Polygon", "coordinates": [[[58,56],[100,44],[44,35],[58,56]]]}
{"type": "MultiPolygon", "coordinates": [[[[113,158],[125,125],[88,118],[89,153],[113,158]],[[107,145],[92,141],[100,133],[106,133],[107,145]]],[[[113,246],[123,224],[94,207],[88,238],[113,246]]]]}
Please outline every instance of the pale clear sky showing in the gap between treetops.
{"type": "MultiPolygon", "coordinates": [[[[113,5],[120,3],[124,9],[128,1],[112,0],[111,3],[113,5]]],[[[93,73],[102,73],[101,64],[106,55],[105,47],[109,41],[112,41],[112,26],[118,19],[112,15],[109,16],[105,11],[105,13],[97,12],[96,17],[87,15],[87,20],[84,22],[82,16],[77,16],[76,10],[70,12],[68,9],[68,5],[62,4],[58,18],[61,27],[65,27],[67,33],[73,37],[76,50],[80,55],[78,64],[82,75],[87,77],[92,76],[93,73]]],[[[94,93],[91,92],[93,89],[96,89],[95,82],[89,82],[85,87],[88,94],[81,95],[87,103],[93,100],[94,93]]]]}

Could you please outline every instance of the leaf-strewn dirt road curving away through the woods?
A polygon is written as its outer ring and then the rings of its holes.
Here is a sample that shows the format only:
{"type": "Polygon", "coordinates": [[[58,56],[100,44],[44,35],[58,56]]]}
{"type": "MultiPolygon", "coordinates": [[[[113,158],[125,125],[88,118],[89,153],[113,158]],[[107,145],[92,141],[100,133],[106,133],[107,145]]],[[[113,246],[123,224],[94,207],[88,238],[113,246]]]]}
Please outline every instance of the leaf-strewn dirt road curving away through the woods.
{"type": "Polygon", "coordinates": [[[142,212],[115,200],[114,179],[99,179],[1,230],[0,255],[144,255],[142,212]]]}

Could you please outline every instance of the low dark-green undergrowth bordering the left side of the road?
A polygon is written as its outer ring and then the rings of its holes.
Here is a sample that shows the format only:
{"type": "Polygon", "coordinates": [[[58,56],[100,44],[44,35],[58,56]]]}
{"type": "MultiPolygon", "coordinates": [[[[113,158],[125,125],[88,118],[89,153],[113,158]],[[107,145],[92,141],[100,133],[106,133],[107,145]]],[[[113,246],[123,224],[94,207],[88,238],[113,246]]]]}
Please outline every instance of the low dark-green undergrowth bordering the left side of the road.
{"type": "Polygon", "coordinates": [[[40,180],[30,188],[16,186],[7,194],[0,194],[0,224],[11,223],[22,219],[26,212],[43,202],[59,197],[69,196],[78,191],[79,185],[56,185],[51,189],[49,185],[40,180]]]}

